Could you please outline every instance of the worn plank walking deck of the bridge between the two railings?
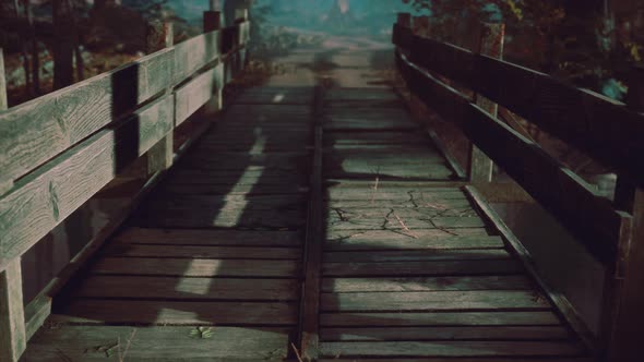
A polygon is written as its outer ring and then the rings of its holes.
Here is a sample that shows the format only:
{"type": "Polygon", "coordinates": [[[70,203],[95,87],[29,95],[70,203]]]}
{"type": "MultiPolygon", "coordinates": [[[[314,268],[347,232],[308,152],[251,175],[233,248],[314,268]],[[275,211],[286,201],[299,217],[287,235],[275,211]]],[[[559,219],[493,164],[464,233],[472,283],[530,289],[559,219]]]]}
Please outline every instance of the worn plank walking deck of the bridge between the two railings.
{"type": "MultiPolygon", "coordinates": [[[[24,360],[293,358],[314,104],[311,88],[237,98],[58,298],[24,360]]],[[[322,360],[583,360],[394,93],[329,90],[319,121],[322,360]]]]}

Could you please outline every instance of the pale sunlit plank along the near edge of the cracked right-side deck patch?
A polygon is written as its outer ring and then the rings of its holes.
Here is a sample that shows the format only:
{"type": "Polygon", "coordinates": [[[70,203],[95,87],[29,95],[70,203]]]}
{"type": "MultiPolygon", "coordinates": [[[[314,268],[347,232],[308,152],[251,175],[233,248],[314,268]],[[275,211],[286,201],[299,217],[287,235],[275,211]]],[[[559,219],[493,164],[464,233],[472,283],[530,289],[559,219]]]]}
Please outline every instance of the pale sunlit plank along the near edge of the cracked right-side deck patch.
{"type": "MultiPolygon", "coordinates": [[[[475,229],[477,230],[477,229],[475,229]]],[[[480,229],[485,233],[485,229],[480,229]]],[[[369,231],[357,236],[327,240],[324,249],[329,251],[384,251],[384,250],[470,250],[470,249],[502,249],[503,241],[499,237],[470,237],[451,236],[442,230],[433,231],[433,234],[419,234],[414,232],[416,239],[410,236],[385,231],[369,231]],[[432,238],[433,237],[433,238],[432,238]]],[[[462,233],[463,230],[458,230],[462,233]]]]}

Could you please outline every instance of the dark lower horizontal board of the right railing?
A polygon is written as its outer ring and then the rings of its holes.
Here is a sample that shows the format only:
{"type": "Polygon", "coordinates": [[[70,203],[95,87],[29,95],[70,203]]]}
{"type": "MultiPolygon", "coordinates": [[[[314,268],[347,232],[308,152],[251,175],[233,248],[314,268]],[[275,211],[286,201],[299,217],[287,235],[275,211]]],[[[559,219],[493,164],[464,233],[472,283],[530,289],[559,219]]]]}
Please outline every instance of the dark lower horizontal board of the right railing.
{"type": "Polygon", "coordinates": [[[611,263],[625,214],[612,209],[537,144],[473,105],[465,96],[397,53],[412,92],[465,134],[546,209],[570,228],[600,262],[611,263]]]}

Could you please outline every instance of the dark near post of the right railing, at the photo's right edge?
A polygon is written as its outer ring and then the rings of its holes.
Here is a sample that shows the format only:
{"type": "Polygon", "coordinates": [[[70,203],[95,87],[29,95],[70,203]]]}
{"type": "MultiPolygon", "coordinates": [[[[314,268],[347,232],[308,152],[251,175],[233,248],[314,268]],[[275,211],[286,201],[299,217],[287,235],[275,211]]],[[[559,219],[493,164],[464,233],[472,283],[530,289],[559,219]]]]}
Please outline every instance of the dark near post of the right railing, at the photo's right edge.
{"type": "MultiPolygon", "coordinates": [[[[628,107],[644,112],[644,69],[634,70],[629,83],[628,107]]],[[[615,206],[632,219],[623,221],[629,225],[618,244],[617,267],[607,275],[611,285],[605,283],[610,293],[605,300],[610,298],[611,309],[603,311],[600,342],[604,361],[634,362],[642,360],[644,326],[644,190],[619,177],[615,206]]]]}

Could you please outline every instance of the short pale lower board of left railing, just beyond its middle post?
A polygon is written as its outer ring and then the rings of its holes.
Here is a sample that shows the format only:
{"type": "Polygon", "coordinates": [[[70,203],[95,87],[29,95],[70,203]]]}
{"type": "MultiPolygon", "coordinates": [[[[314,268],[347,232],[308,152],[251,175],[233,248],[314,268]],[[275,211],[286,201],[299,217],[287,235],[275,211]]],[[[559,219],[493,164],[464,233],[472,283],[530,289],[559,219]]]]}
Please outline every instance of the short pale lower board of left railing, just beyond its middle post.
{"type": "Polygon", "coordinates": [[[224,64],[219,64],[175,90],[177,99],[175,106],[176,125],[183,123],[223,88],[224,64]]]}

